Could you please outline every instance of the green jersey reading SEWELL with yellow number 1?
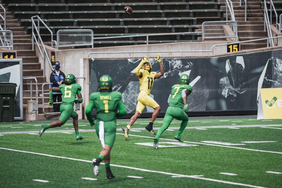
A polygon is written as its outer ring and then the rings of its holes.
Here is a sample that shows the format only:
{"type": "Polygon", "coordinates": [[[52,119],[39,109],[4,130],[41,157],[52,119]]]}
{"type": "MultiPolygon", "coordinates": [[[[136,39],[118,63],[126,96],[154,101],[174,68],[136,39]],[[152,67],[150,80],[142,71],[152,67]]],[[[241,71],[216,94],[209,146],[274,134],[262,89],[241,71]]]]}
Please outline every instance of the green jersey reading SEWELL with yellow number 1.
{"type": "Polygon", "coordinates": [[[90,100],[95,103],[97,120],[115,121],[118,103],[122,98],[120,92],[95,92],[90,95],[90,100]]]}

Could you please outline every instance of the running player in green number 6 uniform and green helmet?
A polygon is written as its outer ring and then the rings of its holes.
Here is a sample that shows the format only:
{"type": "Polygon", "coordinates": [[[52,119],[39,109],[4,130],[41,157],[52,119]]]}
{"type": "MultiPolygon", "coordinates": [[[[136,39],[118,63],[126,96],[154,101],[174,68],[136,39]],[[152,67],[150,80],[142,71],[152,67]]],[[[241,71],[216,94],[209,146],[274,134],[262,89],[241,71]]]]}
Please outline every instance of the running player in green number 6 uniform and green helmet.
{"type": "Polygon", "coordinates": [[[41,137],[42,133],[46,129],[61,127],[71,117],[73,118],[73,127],[76,134],[76,140],[85,139],[85,137],[80,135],[78,131],[78,115],[75,111],[73,111],[74,103],[82,103],[83,101],[80,91],[81,86],[76,83],[76,78],[73,74],[68,74],[65,77],[65,84],[62,84],[59,87],[50,88],[48,106],[53,105],[53,92],[62,93],[63,101],[60,106],[61,116],[57,122],[53,122],[50,125],[43,124],[41,126],[41,131],[39,131],[39,137],[41,137]],[[76,95],[78,96],[78,99],[75,99],[76,95]]]}

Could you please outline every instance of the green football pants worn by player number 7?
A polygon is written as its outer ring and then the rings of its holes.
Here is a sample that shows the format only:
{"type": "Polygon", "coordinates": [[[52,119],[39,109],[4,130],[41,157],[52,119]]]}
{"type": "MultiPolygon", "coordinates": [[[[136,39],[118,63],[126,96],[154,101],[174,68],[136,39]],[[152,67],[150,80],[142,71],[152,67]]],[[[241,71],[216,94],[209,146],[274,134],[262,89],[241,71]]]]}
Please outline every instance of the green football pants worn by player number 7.
{"type": "Polygon", "coordinates": [[[162,133],[169,127],[173,118],[182,120],[177,135],[180,136],[180,134],[184,131],[189,120],[188,115],[179,107],[169,106],[166,110],[166,114],[164,115],[164,122],[162,124],[162,127],[158,130],[158,138],[160,138],[160,135],[162,135],[162,133]]]}

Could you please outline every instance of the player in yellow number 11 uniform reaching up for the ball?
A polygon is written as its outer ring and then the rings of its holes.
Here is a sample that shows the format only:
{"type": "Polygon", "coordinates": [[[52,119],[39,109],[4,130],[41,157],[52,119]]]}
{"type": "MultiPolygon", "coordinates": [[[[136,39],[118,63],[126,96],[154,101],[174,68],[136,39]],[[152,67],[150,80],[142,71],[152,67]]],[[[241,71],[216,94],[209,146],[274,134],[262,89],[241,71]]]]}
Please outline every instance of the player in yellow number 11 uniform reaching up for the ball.
{"type": "Polygon", "coordinates": [[[153,130],[153,123],[160,112],[160,105],[158,105],[158,103],[149,95],[153,87],[154,80],[164,75],[164,68],[162,66],[162,60],[160,59],[159,54],[157,54],[157,59],[155,59],[160,63],[159,73],[151,72],[152,65],[147,59],[149,59],[149,57],[144,55],[140,64],[135,69],[135,74],[136,76],[139,77],[140,93],[138,94],[138,98],[137,98],[137,106],[136,106],[135,114],[130,118],[129,124],[126,127],[122,128],[122,130],[124,131],[125,138],[128,138],[128,131],[130,127],[137,120],[137,118],[139,118],[140,114],[142,113],[142,111],[146,106],[152,107],[155,111],[152,114],[151,121],[145,128],[148,131],[150,131],[152,134],[154,135],[156,134],[155,131],[153,130]]]}

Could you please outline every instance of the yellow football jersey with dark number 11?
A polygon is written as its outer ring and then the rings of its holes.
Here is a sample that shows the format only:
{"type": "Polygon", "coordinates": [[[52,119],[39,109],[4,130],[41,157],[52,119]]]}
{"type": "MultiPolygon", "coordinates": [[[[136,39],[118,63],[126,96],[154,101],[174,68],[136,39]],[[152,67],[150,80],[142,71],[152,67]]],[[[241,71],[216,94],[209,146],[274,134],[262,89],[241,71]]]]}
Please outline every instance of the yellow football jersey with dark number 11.
{"type": "Polygon", "coordinates": [[[139,79],[140,92],[146,92],[150,94],[157,73],[156,72],[149,73],[149,71],[144,69],[140,69],[140,72],[142,72],[142,78],[139,79]]]}

